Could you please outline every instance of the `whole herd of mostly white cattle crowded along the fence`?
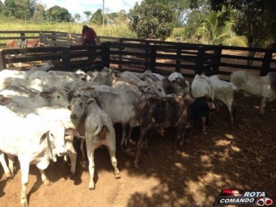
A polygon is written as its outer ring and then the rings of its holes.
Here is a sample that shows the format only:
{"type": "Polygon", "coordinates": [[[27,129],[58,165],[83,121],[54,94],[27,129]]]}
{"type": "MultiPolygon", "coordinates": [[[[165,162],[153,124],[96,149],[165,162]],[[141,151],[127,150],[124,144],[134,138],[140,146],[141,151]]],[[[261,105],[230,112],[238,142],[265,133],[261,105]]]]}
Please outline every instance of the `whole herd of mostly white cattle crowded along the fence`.
{"type": "Polygon", "coordinates": [[[230,82],[216,75],[201,74],[190,85],[176,72],[167,78],[151,71],[120,73],[103,68],[100,72],[84,73],[55,71],[52,67],[47,62],[29,71],[0,72],[0,111],[4,118],[0,130],[0,162],[6,176],[12,177],[14,157],[18,157],[22,206],[28,206],[26,188],[30,164],[38,167],[42,181],[49,184],[44,170],[50,159],[55,162],[57,156],[68,155],[70,176],[75,174],[75,137],[81,140],[83,159],[86,144],[89,189],[94,189],[94,151],[102,145],[108,148],[114,176],[120,178],[115,123],[122,124],[121,147],[135,144],[131,132],[140,126],[134,160],[138,168],[141,150],[147,149],[151,130],[156,129],[163,135],[166,128],[177,127],[175,146],[181,147],[187,129],[198,121],[202,120],[202,131],[206,132],[209,113],[218,106],[214,103],[226,104],[233,124],[239,90],[246,96],[262,98],[262,115],[267,101],[276,99],[276,76],[272,73],[260,77],[237,71],[231,75],[230,82]]]}

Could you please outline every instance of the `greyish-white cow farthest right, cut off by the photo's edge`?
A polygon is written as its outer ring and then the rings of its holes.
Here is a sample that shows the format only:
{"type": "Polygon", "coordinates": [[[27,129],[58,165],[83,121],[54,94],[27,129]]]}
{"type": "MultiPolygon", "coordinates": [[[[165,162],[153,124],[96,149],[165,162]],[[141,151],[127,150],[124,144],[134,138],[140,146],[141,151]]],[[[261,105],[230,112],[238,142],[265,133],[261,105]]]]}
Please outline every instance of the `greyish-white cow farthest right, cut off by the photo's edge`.
{"type": "Polygon", "coordinates": [[[245,71],[235,71],[231,74],[230,81],[243,91],[245,96],[262,98],[261,115],[264,114],[266,103],[276,99],[276,76],[272,73],[257,76],[245,71]]]}

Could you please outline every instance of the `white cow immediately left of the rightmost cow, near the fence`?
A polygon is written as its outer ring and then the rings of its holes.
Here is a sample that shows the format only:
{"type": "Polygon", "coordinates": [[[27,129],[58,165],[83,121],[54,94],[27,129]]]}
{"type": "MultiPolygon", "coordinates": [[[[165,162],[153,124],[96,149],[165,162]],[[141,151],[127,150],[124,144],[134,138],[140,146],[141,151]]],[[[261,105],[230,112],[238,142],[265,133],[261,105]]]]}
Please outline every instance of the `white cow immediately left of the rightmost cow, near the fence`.
{"type": "Polygon", "coordinates": [[[233,124],[235,118],[234,107],[238,94],[238,87],[234,83],[220,80],[217,75],[207,77],[204,74],[201,74],[200,78],[212,82],[213,90],[215,93],[215,100],[222,101],[226,104],[230,113],[231,123],[233,124]]]}

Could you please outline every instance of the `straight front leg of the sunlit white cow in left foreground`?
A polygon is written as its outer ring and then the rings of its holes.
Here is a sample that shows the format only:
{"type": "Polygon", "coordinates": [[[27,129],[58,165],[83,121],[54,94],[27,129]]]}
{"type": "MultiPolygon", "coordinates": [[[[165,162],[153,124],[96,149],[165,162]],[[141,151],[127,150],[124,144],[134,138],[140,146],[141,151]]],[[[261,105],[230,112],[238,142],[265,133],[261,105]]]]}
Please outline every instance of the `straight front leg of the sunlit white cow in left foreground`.
{"type": "Polygon", "coordinates": [[[22,185],[21,196],[20,196],[20,205],[21,205],[21,207],[28,207],[26,190],[27,190],[27,185],[29,182],[30,162],[28,162],[27,160],[22,160],[20,158],[19,158],[19,160],[20,160],[21,185],[22,185]]]}

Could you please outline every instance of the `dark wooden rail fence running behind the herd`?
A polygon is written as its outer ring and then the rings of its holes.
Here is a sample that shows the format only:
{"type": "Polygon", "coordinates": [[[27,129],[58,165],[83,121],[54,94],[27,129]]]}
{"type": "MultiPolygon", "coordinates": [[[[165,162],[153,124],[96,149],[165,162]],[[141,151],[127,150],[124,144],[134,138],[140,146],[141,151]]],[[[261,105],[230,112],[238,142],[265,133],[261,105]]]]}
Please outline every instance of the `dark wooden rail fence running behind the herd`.
{"type": "Polygon", "coordinates": [[[276,50],[228,47],[194,43],[167,42],[147,39],[132,39],[99,36],[102,45],[81,46],[80,34],[55,31],[0,31],[1,34],[15,33],[16,36],[1,37],[8,39],[40,40],[50,47],[3,49],[0,51],[0,70],[9,63],[57,60],[57,70],[71,71],[77,68],[93,66],[95,68],[116,67],[118,70],[145,71],[169,75],[173,71],[186,77],[195,74],[220,74],[224,79],[235,70],[251,70],[258,75],[276,72],[276,50]],[[38,36],[27,37],[26,34],[38,36]],[[255,52],[255,57],[247,53],[255,52]],[[25,54],[25,57],[11,54],[25,54]],[[93,60],[97,56],[97,60],[93,60]],[[252,65],[246,65],[252,60],[252,65]]]}

